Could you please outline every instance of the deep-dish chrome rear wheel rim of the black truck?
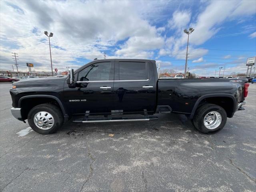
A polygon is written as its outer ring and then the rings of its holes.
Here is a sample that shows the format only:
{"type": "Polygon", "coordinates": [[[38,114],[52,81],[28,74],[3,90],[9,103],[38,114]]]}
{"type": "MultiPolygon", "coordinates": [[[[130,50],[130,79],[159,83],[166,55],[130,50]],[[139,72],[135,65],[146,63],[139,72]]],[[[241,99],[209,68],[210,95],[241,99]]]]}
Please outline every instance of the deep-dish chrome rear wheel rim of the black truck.
{"type": "Polygon", "coordinates": [[[215,129],[222,122],[221,114],[217,111],[212,111],[204,116],[204,126],[208,129],[215,129]]]}

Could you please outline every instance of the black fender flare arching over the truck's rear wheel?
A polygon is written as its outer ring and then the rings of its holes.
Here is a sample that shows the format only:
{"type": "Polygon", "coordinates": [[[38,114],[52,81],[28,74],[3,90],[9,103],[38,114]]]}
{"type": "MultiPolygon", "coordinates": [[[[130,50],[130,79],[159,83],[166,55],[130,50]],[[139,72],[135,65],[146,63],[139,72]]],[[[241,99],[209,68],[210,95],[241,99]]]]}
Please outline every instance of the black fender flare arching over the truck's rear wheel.
{"type": "Polygon", "coordinates": [[[196,109],[199,105],[199,103],[203,100],[203,99],[206,99],[206,98],[210,98],[210,97],[228,97],[228,98],[231,98],[233,100],[233,113],[236,111],[236,98],[231,95],[231,94],[227,94],[227,93],[222,93],[222,94],[219,94],[219,93],[214,93],[214,94],[206,94],[206,95],[202,95],[200,98],[198,98],[198,100],[196,101],[193,109],[192,109],[192,112],[190,114],[190,119],[192,119],[194,117],[194,114],[196,112],[196,109]]]}

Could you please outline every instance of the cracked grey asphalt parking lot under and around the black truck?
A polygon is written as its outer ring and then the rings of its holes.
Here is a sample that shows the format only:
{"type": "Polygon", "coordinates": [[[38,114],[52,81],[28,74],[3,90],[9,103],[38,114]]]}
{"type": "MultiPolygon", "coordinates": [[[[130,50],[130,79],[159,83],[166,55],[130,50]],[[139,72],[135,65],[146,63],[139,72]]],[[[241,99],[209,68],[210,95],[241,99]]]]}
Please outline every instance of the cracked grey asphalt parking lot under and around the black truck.
{"type": "Polygon", "coordinates": [[[213,135],[176,114],[41,135],[11,115],[10,87],[0,84],[0,191],[256,191],[256,84],[213,135]]]}

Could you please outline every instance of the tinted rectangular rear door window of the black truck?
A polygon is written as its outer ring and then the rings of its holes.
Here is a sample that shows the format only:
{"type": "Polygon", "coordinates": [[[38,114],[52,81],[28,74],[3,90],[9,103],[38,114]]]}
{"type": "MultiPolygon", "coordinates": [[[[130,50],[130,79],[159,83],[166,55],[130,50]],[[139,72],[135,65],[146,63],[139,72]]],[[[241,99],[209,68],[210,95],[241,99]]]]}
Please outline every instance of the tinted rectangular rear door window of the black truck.
{"type": "Polygon", "coordinates": [[[145,62],[119,62],[119,80],[146,80],[145,62]]]}

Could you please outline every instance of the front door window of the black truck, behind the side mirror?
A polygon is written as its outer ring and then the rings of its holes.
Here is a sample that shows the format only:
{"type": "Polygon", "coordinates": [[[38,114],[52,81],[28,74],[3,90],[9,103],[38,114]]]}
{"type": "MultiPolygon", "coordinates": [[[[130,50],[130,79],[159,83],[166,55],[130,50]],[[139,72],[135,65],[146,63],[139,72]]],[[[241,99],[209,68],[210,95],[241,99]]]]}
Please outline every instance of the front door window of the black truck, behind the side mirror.
{"type": "Polygon", "coordinates": [[[110,67],[110,62],[92,64],[78,73],[78,81],[108,81],[110,67]]]}

